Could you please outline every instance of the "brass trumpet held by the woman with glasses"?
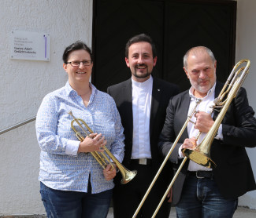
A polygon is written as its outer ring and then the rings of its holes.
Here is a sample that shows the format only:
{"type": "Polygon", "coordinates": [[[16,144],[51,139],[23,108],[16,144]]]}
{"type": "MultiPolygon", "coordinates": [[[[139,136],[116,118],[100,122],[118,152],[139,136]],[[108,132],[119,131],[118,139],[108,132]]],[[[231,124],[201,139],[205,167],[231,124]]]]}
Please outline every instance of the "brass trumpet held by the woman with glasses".
{"type": "MultiPolygon", "coordinates": [[[[69,114],[72,116],[73,120],[71,122],[71,127],[73,131],[76,133],[76,138],[78,138],[81,142],[84,140],[84,137],[79,133],[76,128],[74,127],[73,123],[76,122],[80,128],[83,130],[83,133],[85,133],[88,137],[89,134],[87,131],[83,128],[83,125],[87,128],[87,130],[90,133],[93,133],[93,131],[90,129],[90,127],[80,118],[75,118],[75,116],[72,114],[72,111],[69,111],[69,114]],[[83,125],[82,125],[83,124],[83,125]]],[[[113,162],[117,165],[117,168],[120,170],[120,173],[122,175],[121,183],[125,184],[131,181],[137,174],[136,170],[130,171],[124,167],[124,165],[121,165],[121,162],[117,160],[117,158],[109,151],[109,149],[106,148],[106,146],[102,146],[103,150],[106,152],[106,154],[109,155],[109,157],[113,160],[113,162]]],[[[111,165],[111,170],[113,170],[114,166],[113,163],[110,162],[109,158],[106,156],[104,152],[97,152],[97,151],[91,151],[91,155],[96,159],[96,161],[102,166],[103,169],[106,169],[106,165],[111,165]]]]}

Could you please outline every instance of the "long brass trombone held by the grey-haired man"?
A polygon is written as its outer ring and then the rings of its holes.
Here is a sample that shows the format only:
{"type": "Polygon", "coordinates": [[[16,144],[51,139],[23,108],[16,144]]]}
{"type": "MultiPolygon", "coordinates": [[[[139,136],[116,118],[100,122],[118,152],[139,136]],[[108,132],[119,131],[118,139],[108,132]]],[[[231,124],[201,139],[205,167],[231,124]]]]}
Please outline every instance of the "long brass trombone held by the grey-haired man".
{"type": "MultiPolygon", "coordinates": [[[[206,134],[202,142],[198,144],[198,146],[196,146],[194,150],[182,149],[182,152],[185,155],[184,160],[181,162],[179,169],[177,169],[176,174],[173,176],[173,180],[171,181],[171,183],[169,184],[169,187],[165,191],[165,194],[161,198],[161,202],[159,202],[158,207],[154,211],[154,214],[152,217],[155,217],[157,215],[162,203],[165,201],[167,194],[169,193],[171,187],[173,187],[173,183],[175,182],[177,176],[179,175],[180,170],[183,168],[185,162],[187,161],[187,158],[207,168],[216,167],[216,164],[210,158],[210,147],[211,147],[211,144],[213,143],[213,138],[216,136],[217,130],[221,125],[224,115],[228,111],[229,105],[232,103],[232,100],[236,97],[236,94],[238,93],[239,88],[241,87],[245,78],[247,77],[247,74],[249,73],[249,68],[250,68],[250,60],[247,60],[247,59],[240,60],[235,65],[235,67],[233,67],[232,72],[229,74],[227,81],[225,82],[223,88],[221,89],[221,93],[214,100],[214,105],[212,109],[213,110],[219,109],[220,113],[218,114],[213,126],[210,128],[209,132],[206,134]],[[240,65],[243,63],[246,63],[246,66],[240,67],[240,65]],[[238,67],[240,68],[236,71],[238,67]],[[224,96],[226,95],[228,96],[224,100],[224,96]]],[[[154,179],[150,183],[150,187],[148,187],[146,194],[144,194],[143,199],[139,203],[139,206],[136,209],[132,218],[135,218],[138,215],[139,210],[141,209],[141,207],[143,206],[143,203],[147,198],[147,195],[150,193],[150,190],[152,189],[152,187],[154,186],[154,183],[158,179],[158,176],[160,175],[161,170],[164,168],[165,163],[169,159],[169,156],[173,153],[173,150],[176,147],[176,144],[179,142],[180,136],[184,133],[184,130],[186,129],[188,122],[191,122],[191,118],[193,114],[195,114],[196,107],[198,107],[198,104],[200,104],[200,102],[201,100],[197,100],[195,108],[191,111],[191,114],[189,114],[189,116],[187,117],[187,120],[184,123],[183,127],[181,128],[180,133],[176,137],[176,140],[174,141],[173,146],[170,148],[168,154],[165,157],[165,160],[162,162],[160,168],[158,169],[158,173],[156,174],[156,176],[154,176],[154,179]]]]}

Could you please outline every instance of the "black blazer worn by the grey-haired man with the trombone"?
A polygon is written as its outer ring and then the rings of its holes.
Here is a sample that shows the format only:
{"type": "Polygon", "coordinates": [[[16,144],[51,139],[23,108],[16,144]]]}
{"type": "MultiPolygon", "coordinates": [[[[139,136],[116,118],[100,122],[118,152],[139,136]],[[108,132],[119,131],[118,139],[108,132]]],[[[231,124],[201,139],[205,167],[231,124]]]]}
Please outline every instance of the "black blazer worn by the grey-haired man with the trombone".
{"type": "MultiPolygon", "coordinates": [[[[221,92],[223,84],[217,82],[215,97],[221,92]]],[[[187,119],[187,111],[190,104],[188,90],[173,97],[170,100],[165,118],[165,125],[161,131],[158,146],[166,156],[172,142],[180,133],[180,129],[187,119]]],[[[217,112],[213,119],[217,118],[217,112]]],[[[228,111],[222,121],[223,140],[213,140],[210,148],[210,156],[217,168],[213,169],[214,180],[221,194],[225,198],[237,198],[247,191],[256,189],[254,175],[250,166],[245,147],[256,146],[256,119],[254,111],[249,106],[246,90],[239,89],[236,98],[228,107],[228,111]]],[[[169,160],[176,170],[182,160],[178,158],[178,149],[184,140],[188,138],[187,129],[180,137],[169,160]]],[[[188,161],[177,177],[173,185],[173,204],[180,201],[180,194],[187,174],[188,161]]]]}

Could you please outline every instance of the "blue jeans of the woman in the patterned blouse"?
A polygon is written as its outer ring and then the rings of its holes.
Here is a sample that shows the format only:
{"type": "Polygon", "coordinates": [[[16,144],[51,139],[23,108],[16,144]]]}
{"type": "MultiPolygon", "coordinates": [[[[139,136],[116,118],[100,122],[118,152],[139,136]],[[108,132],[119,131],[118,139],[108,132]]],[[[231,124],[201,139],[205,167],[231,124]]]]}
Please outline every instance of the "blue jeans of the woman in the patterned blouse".
{"type": "Polygon", "coordinates": [[[98,194],[60,191],[40,183],[40,193],[48,218],[105,218],[113,190],[98,194]]]}

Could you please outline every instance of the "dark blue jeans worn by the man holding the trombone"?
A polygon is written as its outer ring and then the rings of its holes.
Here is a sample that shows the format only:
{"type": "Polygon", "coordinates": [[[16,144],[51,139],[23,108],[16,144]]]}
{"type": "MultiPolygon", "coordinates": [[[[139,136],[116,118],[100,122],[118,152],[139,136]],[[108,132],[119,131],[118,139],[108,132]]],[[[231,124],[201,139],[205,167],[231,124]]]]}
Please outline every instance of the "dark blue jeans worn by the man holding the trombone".
{"type": "Polygon", "coordinates": [[[237,198],[224,198],[211,179],[187,176],[180,202],[176,205],[179,218],[229,218],[236,211],[237,198]]]}

